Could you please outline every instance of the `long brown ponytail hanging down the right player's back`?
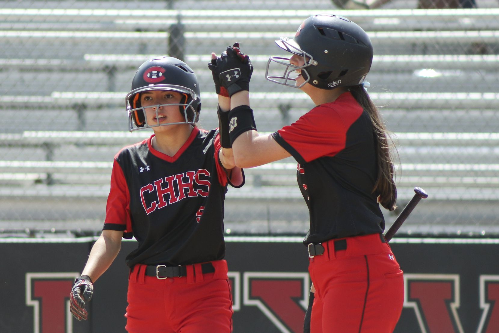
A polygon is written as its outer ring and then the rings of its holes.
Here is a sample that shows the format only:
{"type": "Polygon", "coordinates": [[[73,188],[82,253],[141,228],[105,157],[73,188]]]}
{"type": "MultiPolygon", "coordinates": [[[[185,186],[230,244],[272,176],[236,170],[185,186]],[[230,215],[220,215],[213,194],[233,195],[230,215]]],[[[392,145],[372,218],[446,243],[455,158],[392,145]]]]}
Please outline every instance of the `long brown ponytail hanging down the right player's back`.
{"type": "Polygon", "coordinates": [[[373,192],[379,195],[379,202],[383,207],[392,211],[397,206],[397,187],[395,186],[395,166],[391,149],[395,149],[389,131],[386,129],[381,114],[374,105],[362,85],[349,87],[352,96],[369,114],[373,123],[376,142],[376,154],[378,163],[378,175],[374,184],[373,192]]]}

